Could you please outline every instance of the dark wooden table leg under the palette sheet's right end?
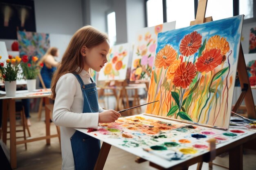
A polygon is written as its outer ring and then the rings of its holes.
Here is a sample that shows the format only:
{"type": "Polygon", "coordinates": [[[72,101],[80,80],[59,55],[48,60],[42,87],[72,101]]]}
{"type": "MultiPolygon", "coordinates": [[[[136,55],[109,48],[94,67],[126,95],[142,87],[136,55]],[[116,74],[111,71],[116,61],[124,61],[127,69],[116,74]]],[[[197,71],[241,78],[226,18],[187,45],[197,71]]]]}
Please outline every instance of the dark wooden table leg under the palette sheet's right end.
{"type": "Polygon", "coordinates": [[[243,145],[229,150],[229,169],[243,170],[243,145]]]}

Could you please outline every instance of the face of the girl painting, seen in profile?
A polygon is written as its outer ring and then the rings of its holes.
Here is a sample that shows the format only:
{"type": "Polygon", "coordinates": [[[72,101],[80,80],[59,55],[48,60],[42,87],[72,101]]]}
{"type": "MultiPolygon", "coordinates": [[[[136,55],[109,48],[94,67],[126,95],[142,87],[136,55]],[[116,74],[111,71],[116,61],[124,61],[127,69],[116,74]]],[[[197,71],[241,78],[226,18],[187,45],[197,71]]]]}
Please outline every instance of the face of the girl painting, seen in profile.
{"type": "Polygon", "coordinates": [[[108,62],[107,54],[110,49],[108,41],[104,41],[91,49],[85,48],[85,71],[89,68],[99,72],[108,62]]]}

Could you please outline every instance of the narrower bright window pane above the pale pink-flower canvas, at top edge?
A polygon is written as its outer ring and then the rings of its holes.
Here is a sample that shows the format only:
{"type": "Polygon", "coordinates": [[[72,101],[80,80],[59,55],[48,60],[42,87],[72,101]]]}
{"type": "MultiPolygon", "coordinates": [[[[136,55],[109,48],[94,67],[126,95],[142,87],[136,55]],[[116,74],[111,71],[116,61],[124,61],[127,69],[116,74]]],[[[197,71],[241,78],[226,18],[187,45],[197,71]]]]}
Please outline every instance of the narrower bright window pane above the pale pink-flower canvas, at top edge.
{"type": "Polygon", "coordinates": [[[163,23],[163,2],[162,0],[148,0],[147,8],[147,23],[148,27],[163,23]]]}

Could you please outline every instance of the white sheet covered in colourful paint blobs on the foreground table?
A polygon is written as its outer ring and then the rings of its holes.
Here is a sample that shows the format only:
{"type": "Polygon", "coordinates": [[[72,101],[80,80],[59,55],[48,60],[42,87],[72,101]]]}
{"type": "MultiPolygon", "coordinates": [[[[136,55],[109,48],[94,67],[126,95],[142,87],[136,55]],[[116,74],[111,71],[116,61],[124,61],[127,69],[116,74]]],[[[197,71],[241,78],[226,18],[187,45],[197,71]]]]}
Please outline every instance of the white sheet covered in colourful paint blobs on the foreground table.
{"type": "Polygon", "coordinates": [[[99,124],[98,129],[76,130],[164,168],[209,152],[209,139],[215,138],[219,148],[255,133],[236,128],[224,131],[142,114],[99,124]]]}

